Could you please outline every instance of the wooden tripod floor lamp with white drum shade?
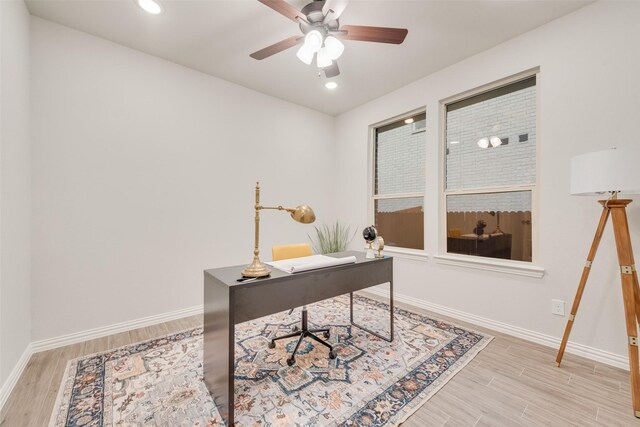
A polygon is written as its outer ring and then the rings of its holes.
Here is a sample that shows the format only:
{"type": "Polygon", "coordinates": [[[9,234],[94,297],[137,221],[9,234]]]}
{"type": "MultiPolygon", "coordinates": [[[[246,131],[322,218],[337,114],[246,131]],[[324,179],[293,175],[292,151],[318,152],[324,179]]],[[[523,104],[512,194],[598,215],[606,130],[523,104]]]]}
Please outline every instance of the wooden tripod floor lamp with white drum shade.
{"type": "Polygon", "coordinates": [[[640,289],[638,275],[631,247],[629,224],[627,222],[627,205],[629,199],[618,199],[618,193],[640,193],[639,152],[635,150],[611,149],[582,154],[571,160],[571,194],[602,195],[609,194],[607,200],[599,200],[602,205],[600,222],[591,243],[587,262],[582,270],[578,291],[571,307],[571,314],[562,337],[556,362],[560,366],[562,356],[569,340],[571,327],[575,320],[582,294],[589,278],[591,264],[596,256],[605,225],[612,218],[613,233],[620,264],[622,280],[622,297],[627,327],[629,372],[631,374],[631,399],[634,415],[640,418],[640,366],[638,361],[638,323],[640,323],[640,289]]]}

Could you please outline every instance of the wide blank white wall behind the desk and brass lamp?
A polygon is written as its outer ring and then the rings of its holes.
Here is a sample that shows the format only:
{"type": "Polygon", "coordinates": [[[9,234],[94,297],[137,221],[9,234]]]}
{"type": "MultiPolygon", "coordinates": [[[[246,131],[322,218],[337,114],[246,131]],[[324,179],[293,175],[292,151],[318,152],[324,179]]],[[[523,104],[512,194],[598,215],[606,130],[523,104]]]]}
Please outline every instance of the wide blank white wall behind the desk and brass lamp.
{"type": "MultiPolygon", "coordinates": [[[[33,339],[202,304],[264,204],[335,218],[333,118],[32,18],[33,339]]],[[[263,259],[312,226],[262,214],[263,259]]]]}

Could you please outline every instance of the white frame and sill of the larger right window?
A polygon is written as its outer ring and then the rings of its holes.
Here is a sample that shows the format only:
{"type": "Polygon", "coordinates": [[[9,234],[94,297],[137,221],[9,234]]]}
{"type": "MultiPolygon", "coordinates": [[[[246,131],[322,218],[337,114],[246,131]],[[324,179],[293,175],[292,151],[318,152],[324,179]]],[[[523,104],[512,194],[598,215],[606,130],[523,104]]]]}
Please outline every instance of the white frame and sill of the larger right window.
{"type": "Polygon", "coordinates": [[[439,105],[439,148],[438,148],[438,167],[439,173],[439,233],[438,233],[438,255],[436,261],[443,264],[464,266],[477,268],[482,270],[501,271],[517,275],[541,278],[544,275],[544,269],[538,266],[539,263],[539,223],[540,223],[540,204],[539,204],[539,188],[540,188],[540,69],[539,67],[523,71],[518,74],[494,81],[492,83],[467,90],[458,95],[454,95],[440,100],[439,105]],[[464,99],[488,92],[500,87],[509,86],[518,81],[531,77],[536,78],[536,179],[531,184],[508,185],[508,186],[490,186],[482,188],[465,188],[448,190],[446,188],[446,131],[447,131],[447,105],[464,99]],[[531,191],[531,261],[520,260],[502,260],[498,258],[482,257],[475,255],[456,254],[447,252],[447,196],[478,194],[478,193],[503,193],[511,191],[531,191]]]}

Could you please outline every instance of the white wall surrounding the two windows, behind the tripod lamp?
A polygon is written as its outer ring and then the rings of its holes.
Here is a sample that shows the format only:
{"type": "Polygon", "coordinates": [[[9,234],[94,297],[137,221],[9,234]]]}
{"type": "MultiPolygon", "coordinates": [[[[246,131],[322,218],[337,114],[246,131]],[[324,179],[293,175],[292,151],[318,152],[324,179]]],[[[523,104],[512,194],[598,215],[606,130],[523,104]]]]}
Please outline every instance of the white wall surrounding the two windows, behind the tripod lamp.
{"type": "MultiPolygon", "coordinates": [[[[368,126],[426,106],[426,249],[438,253],[442,165],[439,101],[540,67],[538,264],[543,279],[395,260],[396,292],[541,334],[561,337],[566,318],[551,299],[573,300],[601,212],[594,198],[569,195],[569,161],[611,146],[637,146],[640,111],[640,3],[597,2],[489,51],[468,58],[337,118],[339,217],[369,222],[368,126]]],[[[629,208],[640,250],[640,201],[629,208]]],[[[535,219],[535,217],[534,217],[535,219]]],[[[572,341],[626,356],[620,279],[609,226],[576,317],[572,341]]],[[[362,247],[361,242],[353,244],[362,247]]]]}

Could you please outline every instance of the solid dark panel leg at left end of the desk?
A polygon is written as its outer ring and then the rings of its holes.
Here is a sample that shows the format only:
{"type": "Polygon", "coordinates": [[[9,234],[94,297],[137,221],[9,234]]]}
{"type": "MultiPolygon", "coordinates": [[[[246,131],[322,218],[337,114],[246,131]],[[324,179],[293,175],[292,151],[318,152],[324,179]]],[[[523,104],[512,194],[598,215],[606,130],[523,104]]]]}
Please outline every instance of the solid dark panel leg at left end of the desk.
{"type": "Polygon", "coordinates": [[[229,287],[205,276],[204,382],[227,426],[234,423],[235,324],[229,287]]]}

